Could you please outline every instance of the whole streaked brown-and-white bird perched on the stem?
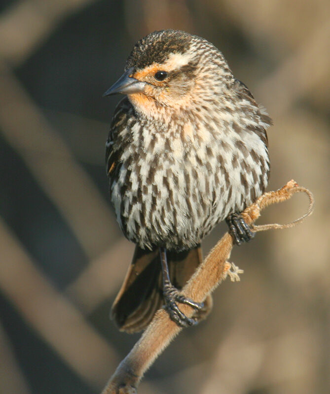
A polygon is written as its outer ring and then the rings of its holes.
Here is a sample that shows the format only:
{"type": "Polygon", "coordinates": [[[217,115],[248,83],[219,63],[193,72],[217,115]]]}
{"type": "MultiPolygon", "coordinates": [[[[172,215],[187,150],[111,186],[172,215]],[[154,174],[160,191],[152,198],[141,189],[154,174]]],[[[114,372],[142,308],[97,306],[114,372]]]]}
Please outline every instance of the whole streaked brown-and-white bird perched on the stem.
{"type": "Polygon", "coordinates": [[[106,143],[110,201],[136,246],[111,316],[131,333],[164,307],[189,327],[212,308],[211,296],[198,303],[180,293],[202,261],[202,239],[224,220],[237,245],[255,235],[241,212],[267,187],[272,120],[216,46],[178,30],[134,45],[104,96],[117,93],[125,97],[106,143]]]}

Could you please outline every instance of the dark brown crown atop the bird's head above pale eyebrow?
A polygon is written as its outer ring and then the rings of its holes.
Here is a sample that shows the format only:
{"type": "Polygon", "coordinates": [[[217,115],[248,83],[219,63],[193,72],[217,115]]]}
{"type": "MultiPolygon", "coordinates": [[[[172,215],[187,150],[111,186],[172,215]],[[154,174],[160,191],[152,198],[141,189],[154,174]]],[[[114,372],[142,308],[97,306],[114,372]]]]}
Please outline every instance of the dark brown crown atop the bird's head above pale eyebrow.
{"type": "Polygon", "coordinates": [[[171,53],[184,53],[194,36],[179,30],[161,30],[138,41],[127,59],[125,69],[143,69],[153,63],[164,63],[171,53]]]}

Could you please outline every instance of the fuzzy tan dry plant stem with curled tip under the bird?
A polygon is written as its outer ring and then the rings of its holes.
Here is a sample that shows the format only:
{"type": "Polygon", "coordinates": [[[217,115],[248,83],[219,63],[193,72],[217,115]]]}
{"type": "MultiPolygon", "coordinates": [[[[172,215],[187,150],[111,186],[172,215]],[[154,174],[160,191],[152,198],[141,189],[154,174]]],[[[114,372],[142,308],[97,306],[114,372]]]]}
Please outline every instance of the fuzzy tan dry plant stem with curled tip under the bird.
{"type": "MultiPolygon", "coordinates": [[[[294,193],[305,192],[310,199],[308,212],[301,218],[288,225],[255,226],[255,231],[270,228],[287,228],[300,223],[312,213],[314,199],[311,193],[299,187],[294,181],[288,182],[283,188],[265,193],[243,212],[245,221],[252,225],[260,216],[260,211],[275,202],[288,200],[294,193]]],[[[183,288],[183,295],[197,302],[202,302],[222,281],[224,273],[229,268],[226,264],[233,246],[232,237],[225,233],[217,245],[210,251],[203,263],[183,288]]],[[[188,305],[180,305],[183,313],[191,317],[194,313],[188,305]]],[[[150,325],[135,344],[130,353],[119,364],[102,394],[134,394],[143,374],[169,345],[172,339],[182,330],[168,316],[164,309],[156,312],[150,325]]]]}

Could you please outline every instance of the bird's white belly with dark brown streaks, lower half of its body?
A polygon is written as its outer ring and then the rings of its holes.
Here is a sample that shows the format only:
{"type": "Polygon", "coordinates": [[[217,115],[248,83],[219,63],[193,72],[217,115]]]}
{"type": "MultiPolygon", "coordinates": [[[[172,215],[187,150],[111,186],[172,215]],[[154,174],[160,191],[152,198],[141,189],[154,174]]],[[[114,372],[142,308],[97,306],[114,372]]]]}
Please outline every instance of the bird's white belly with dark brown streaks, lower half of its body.
{"type": "Polygon", "coordinates": [[[219,221],[261,195],[264,185],[256,182],[261,175],[260,165],[251,171],[247,164],[223,158],[211,158],[205,165],[192,158],[138,167],[122,164],[111,184],[111,201],[129,240],[143,248],[189,249],[219,221]]]}

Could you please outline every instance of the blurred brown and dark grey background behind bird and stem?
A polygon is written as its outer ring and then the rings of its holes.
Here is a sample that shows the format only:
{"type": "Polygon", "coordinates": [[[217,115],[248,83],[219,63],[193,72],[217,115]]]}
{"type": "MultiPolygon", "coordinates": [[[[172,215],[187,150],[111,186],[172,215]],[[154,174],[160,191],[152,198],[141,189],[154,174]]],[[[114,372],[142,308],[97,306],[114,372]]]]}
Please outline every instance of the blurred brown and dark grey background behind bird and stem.
{"type": "MultiPolygon", "coordinates": [[[[139,338],[109,319],[133,245],[104,166],[120,98],[102,94],[134,43],[163,28],[223,52],[274,120],[268,189],[293,178],[316,209],[234,248],[241,282],[221,284],[207,321],[180,334],[139,392],[329,393],[329,0],[2,0],[0,12],[0,393],[98,393],[139,338]]],[[[295,196],[259,222],[307,206],[295,196]]]]}

